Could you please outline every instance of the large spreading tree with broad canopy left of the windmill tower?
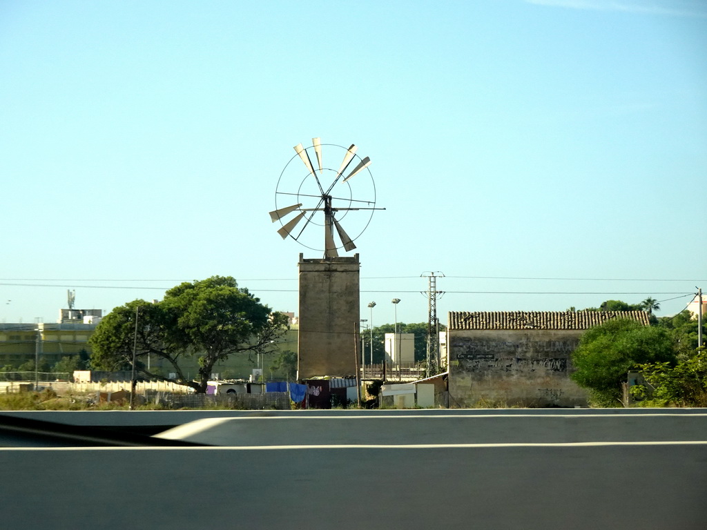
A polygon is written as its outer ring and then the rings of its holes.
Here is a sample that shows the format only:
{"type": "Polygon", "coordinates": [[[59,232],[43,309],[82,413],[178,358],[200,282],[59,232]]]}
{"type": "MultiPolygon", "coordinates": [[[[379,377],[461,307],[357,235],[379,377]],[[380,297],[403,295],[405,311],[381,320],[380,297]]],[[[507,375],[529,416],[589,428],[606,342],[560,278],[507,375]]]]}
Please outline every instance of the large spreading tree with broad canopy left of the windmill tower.
{"type": "Polygon", "coordinates": [[[91,365],[119,370],[132,363],[144,375],[192,387],[198,393],[216,363],[239,353],[268,353],[286,331],[287,318],[262,305],[230,276],[213,276],[185,282],[165,293],[154,304],[134,300],[116,307],[96,326],[90,344],[91,365]],[[176,374],[174,379],[151,372],[143,360],[147,355],[163,358],[176,374]],[[195,379],[185,377],[185,358],[197,358],[195,379]]]}

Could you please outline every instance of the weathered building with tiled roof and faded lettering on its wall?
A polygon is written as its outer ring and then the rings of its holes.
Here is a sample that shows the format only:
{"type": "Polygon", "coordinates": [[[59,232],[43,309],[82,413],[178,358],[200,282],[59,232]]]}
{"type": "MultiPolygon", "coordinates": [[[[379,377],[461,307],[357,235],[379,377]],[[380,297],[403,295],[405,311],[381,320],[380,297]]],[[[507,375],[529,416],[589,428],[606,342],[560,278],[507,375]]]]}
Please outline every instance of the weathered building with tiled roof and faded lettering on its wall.
{"type": "Polygon", "coordinates": [[[617,318],[650,325],[643,311],[450,312],[450,406],[586,406],[570,355],[584,331],[617,318]]]}

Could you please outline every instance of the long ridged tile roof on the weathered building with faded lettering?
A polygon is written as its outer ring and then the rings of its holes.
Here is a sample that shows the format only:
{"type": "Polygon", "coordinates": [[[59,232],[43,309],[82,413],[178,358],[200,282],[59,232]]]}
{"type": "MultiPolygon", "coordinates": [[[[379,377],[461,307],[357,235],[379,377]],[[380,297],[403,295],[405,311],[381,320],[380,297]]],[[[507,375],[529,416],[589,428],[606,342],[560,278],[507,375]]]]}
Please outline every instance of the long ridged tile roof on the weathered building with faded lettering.
{"type": "Polygon", "coordinates": [[[650,325],[645,311],[450,311],[449,329],[589,329],[611,319],[650,325]]]}

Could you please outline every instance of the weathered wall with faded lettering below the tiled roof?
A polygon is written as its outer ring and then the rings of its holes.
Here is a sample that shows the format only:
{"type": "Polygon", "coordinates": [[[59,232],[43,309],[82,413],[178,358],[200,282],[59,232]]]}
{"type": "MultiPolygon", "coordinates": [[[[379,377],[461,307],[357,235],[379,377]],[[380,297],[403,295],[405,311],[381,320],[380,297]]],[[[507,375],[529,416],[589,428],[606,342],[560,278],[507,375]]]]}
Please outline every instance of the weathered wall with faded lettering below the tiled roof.
{"type": "Polygon", "coordinates": [[[450,406],[480,400],[524,406],[586,406],[569,375],[580,330],[450,331],[450,406]]]}

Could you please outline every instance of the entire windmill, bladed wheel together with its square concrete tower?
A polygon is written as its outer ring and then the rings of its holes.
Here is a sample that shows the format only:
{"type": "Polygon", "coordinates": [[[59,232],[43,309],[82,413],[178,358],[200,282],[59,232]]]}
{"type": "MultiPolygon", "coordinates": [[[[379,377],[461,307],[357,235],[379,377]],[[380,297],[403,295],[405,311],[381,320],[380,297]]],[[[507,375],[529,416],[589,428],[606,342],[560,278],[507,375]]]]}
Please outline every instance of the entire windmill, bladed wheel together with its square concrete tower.
{"type": "Polygon", "coordinates": [[[324,252],[316,259],[300,253],[298,262],[297,378],[358,377],[361,264],[358,254],[339,257],[339,250],[354,250],[374,211],[385,208],[375,207],[370,158],[359,157],[355,145],[313,138],[311,146],[298,143],[294,149],[277,181],[270,219],[281,224],[277,232],[283,239],[324,252]],[[327,166],[330,160],[333,167],[327,166]]]}

